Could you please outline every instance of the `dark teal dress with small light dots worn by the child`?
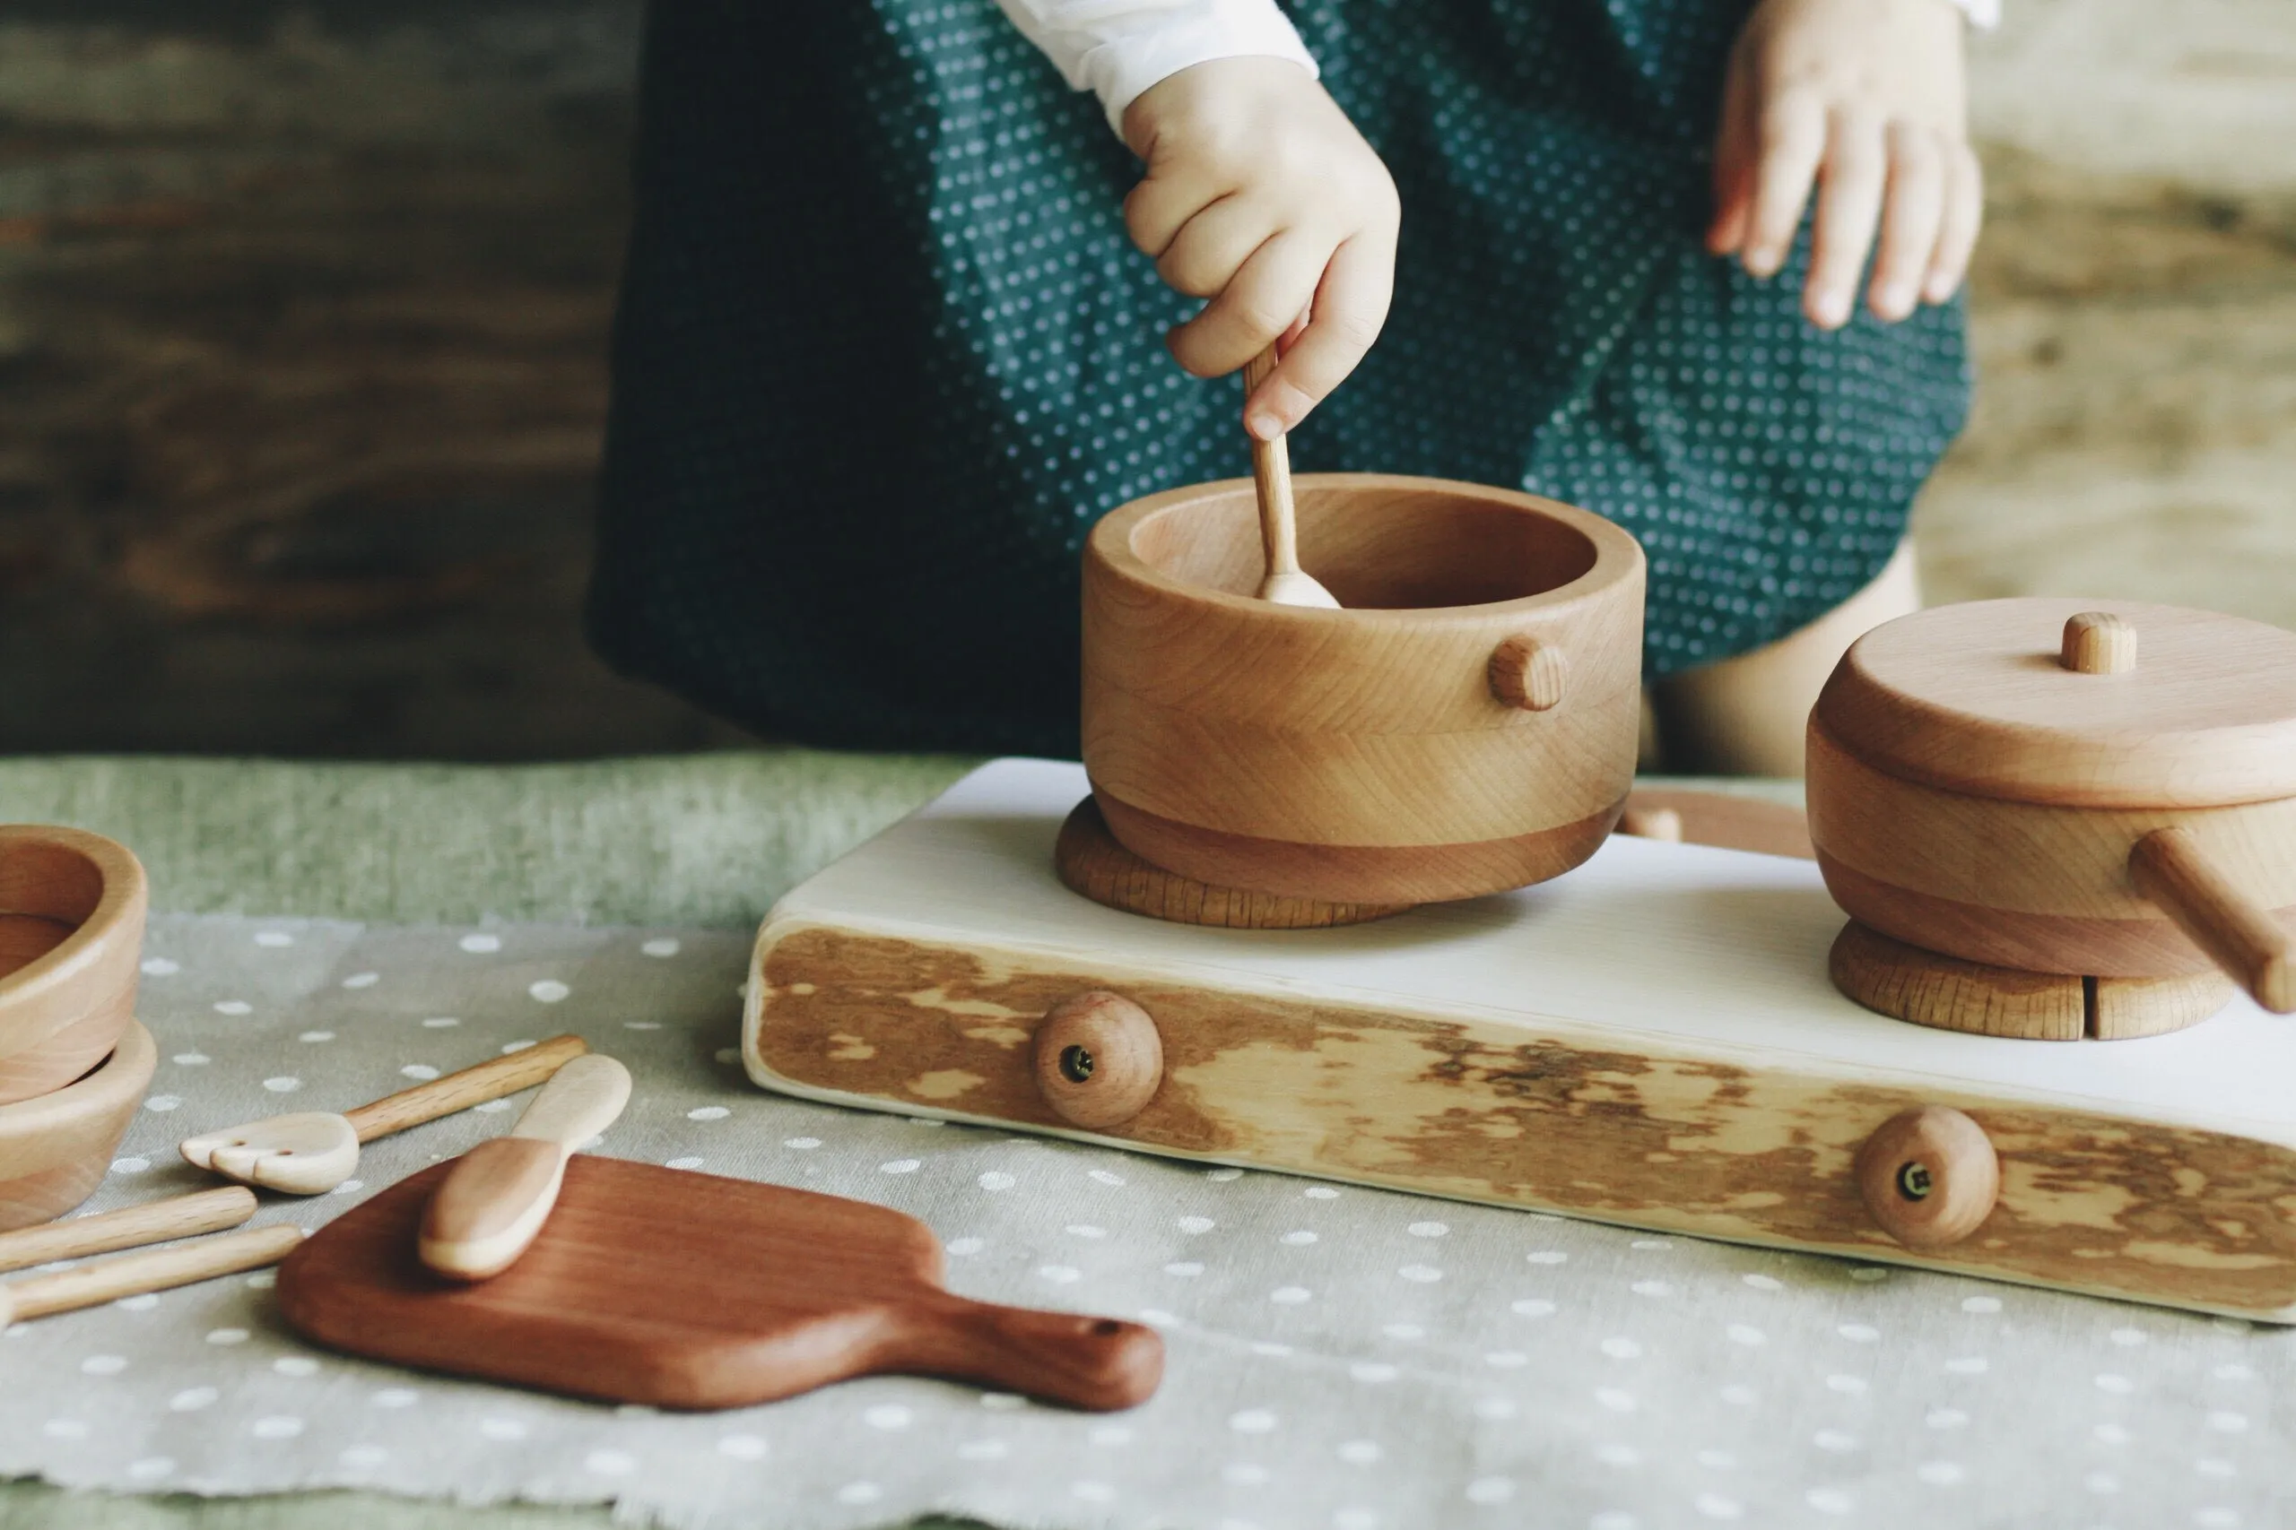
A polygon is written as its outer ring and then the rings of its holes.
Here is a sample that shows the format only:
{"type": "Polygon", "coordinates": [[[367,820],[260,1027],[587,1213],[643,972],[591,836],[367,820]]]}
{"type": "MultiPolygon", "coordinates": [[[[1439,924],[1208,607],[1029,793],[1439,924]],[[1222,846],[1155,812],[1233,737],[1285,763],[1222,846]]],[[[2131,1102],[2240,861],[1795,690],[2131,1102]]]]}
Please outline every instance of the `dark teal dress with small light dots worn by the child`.
{"type": "MultiPolygon", "coordinates": [[[[1704,255],[1743,0],[1304,0],[1394,170],[1387,330],[1300,470],[1513,484],[1651,557],[1644,668],[1867,585],[1968,408],[1956,307],[1821,333],[1704,255]]],[[[590,631],[760,734],[1077,750],[1077,560],[1249,470],[1137,179],[992,0],[657,0],[590,631]]]]}

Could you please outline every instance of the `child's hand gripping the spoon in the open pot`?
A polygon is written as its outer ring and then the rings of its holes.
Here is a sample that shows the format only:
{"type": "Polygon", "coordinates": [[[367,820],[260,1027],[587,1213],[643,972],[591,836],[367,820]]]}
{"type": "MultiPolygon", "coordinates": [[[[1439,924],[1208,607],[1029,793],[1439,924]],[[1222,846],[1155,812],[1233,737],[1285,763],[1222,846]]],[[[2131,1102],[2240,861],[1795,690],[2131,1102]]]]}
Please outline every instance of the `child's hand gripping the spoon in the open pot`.
{"type": "Polygon", "coordinates": [[[1212,298],[1166,335],[1173,358],[1226,376],[1297,330],[1244,399],[1244,429],[1281,436],[1387,323],[1398,220],[1387,165],[1322,85],[1279,57],[1159,80],[1125,110],[1125,142],[1148,161],[1125,197],[1132,243],[1173,289],[1212,298]]]}

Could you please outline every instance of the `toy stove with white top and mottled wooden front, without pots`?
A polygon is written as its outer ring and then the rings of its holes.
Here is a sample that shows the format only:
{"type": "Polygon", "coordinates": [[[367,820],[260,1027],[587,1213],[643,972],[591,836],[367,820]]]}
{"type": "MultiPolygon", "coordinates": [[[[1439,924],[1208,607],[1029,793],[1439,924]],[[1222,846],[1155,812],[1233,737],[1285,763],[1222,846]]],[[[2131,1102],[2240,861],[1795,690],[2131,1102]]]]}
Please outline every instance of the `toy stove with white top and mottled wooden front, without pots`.
{"type": "Polygon", "coordinates": [[[1079,766],[983,766],[781,899],[753,957],[751,1078],[2296,1321],[2296,1023],[2248,998],[2193,1030],[2096,1046],[1906,1025],[1830,984],[1844,915],[1812,862],[1630,837],[1550,883],[1373,924],[1169,924],[1054,876],[1054,835],[1084,794],[1079,766]],[[1109,1067],[1159,1071],[1137,1115],[1097,1131],[1035,1067],[1047,1014],[1100,1023],[1088,993],[1130,1000],[1162,1051],[1146,1064],[1107,1051],[1109,1067]],[[1922,1106],[1981,1126],[2000,1191],[1972,1234],[1915,1250],[1867,1209],[1857,1154],[1922,1106]]]}

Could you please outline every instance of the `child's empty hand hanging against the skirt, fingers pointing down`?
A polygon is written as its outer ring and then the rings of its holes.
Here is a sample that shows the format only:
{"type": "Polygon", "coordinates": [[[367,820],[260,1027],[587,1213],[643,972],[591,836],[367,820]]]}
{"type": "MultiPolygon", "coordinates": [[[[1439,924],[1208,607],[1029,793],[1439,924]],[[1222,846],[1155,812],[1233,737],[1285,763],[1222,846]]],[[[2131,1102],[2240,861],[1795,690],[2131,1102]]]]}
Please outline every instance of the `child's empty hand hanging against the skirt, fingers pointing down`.
{"type": "Polygon", "coordinates": [[[1816,177],[1812,323],[1848,323],[1876,223],[1878,319],[1954,296],[1984,209],[1961,30],[1947,0],[1761,0],[1731,48],[1706,248],[1773,275],[1816,177]]]}

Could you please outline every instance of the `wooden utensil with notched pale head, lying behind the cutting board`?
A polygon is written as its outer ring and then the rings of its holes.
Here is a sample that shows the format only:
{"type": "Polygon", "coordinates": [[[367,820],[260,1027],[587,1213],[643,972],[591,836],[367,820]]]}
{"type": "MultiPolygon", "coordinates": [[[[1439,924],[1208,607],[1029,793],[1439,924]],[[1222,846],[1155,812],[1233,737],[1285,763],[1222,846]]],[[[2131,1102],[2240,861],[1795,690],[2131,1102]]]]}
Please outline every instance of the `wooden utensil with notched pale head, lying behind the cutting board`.
{"type": "Polygon", "coordinates": [[[581,1037],[551,1037],[413,1090],[400,1090],[347,1115],[331,1110],[273,1115],[184,1138],[184,1158],[239,1184],[289,1195],[324,1195],[358,1168],[360,1142],[530,1090],[588,1051],[581,1037]]]}

